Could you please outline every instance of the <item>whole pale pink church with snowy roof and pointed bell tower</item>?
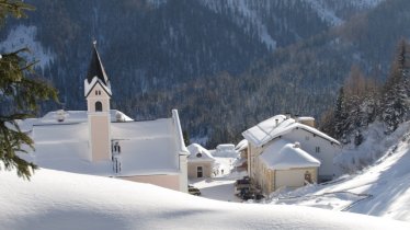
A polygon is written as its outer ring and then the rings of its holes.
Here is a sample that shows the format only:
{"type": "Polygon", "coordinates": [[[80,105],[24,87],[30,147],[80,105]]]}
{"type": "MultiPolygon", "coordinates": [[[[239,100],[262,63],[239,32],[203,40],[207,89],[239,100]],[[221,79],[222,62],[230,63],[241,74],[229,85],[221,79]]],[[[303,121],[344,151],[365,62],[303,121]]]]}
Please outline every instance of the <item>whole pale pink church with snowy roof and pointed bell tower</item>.
{"type": "Polygon", "coordinates": [[[84,80],[88,110],[49,112],[27,120],[25,128],[35,143],[29,160],[42,168],[186,192],[189,151],[178,111],[169,118],[135,122],[110,108],[112,95],[94,45],[84,80]]]}

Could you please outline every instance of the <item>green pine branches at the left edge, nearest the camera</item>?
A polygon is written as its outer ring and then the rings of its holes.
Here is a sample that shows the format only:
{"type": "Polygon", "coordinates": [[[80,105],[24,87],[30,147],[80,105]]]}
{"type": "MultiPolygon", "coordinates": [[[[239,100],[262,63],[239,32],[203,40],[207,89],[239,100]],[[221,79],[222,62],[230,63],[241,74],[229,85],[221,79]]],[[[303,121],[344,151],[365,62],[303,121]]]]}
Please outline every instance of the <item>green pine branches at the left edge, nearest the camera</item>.
{"type": "MultiPolygon", "coordinates": [[[[0,0],[0,23],[3,24],[9,15],[25,16],[24,10],[32,9],[21,1],[0,0]]],[[[18,120],[34,116],[38,101],[57,100],[57,92],[35,77],[32,70],[34,64],[22,57],[27,51],[20,49],[0,57],[0,166],[16,169],[19,176],[30,180],[36,165],[18,153],[26,152],[27,148],[34,149],[33,140],[20,129],[18,120]],[[7,105],[11,110],[5,110],[7,105]]]]}

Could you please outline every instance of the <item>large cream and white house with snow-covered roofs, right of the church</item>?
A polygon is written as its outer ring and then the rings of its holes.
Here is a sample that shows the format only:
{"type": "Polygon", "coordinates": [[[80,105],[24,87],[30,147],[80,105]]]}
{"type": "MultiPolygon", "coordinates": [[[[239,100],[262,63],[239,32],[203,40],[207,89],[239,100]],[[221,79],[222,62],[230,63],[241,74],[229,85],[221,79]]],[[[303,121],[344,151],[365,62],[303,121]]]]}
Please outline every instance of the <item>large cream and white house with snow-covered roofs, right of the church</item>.
{"type": "Polygon", "coordinates": [[[340,143],[314,125],[312,117],[276,115],[242,133],[249,141],[248,173],[254,186],[269,194],[333,177],[340,143]]]}

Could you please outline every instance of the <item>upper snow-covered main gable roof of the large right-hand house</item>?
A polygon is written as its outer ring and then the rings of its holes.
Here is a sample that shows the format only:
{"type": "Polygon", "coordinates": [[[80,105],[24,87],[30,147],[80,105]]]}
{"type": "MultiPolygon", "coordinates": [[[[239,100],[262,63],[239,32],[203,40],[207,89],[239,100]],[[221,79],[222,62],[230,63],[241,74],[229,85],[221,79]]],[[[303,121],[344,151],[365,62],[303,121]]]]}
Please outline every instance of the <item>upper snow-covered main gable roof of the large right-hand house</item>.
{"type": "Polygon", "coordinates": [[[323,139],[327,139],[330,142],[340,145],[338,140],[329,137],[328,135],[319,131],[318,129],[297,123],[293,118],[286,118],[286,116],[284,115],[276,115],[266,120],[263,120],[260,124],[253,126],[252,128],[243,131],[242,136],[247,140],[251,141],[254,146],[261,147],[280,136],[291,133],[294,129],[304,129],[323,139]]]}

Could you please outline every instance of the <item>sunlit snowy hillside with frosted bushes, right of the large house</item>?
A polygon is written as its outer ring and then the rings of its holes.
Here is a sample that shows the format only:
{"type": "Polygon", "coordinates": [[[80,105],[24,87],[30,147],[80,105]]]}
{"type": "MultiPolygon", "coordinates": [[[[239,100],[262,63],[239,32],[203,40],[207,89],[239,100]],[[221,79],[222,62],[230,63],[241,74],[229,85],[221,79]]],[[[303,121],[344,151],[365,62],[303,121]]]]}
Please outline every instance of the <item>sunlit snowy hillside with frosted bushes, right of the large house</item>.
{"type": "Polygon", "coordinates": [[[377,158],[374,165],[323,185],[273,194],[272,204],[301,205],[345,210],[410,221],[410,124],[390,136],[379,124],[366,133],[358,148],[348,147],[337,161],[354,169],[377,158]]]}

